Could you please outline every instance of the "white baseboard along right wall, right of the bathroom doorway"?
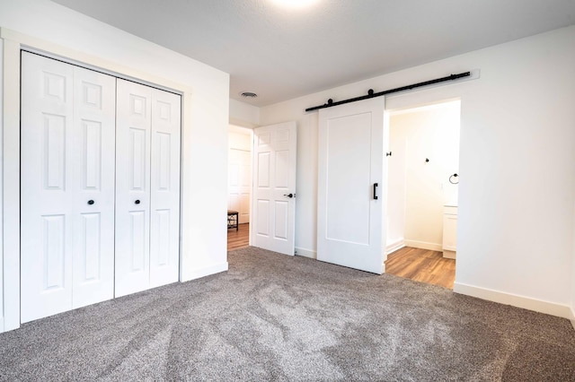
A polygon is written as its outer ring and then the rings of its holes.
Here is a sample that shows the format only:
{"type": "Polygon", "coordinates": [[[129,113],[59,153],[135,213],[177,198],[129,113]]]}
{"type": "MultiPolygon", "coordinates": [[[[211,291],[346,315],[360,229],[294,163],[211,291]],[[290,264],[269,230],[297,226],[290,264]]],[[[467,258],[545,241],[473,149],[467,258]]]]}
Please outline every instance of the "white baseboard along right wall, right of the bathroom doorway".
{"type": "Polygon", "coordinates": [[[556,304],[554,302],[531,299],[524,296],[518,296],[516,294],[504,293],[502,291],[493,291],[491,289],[467,285],[461,282],[454,283],[453,291],[467,296],[477,297],[482,300],[489,300],[499,302],[500,304],[511,305],[512,307],[534,310],[535,312],[545,313],[551,316],[563,317],[570,320],[575,319],[570,307],[567,305],[556,304]]]}

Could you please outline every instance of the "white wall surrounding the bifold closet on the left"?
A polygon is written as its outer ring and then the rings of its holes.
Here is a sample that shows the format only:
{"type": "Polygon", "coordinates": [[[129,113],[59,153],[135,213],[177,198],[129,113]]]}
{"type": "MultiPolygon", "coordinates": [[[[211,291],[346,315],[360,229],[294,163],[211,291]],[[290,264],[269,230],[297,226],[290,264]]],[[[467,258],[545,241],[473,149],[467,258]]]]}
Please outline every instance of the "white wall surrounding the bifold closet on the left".
{"type": "MultiPolygon", "coordinates": [[[[4,67],[4,96],[16,94],[9,102],[4,97],[3,102],[4,108],[11,105],[4,109],[4,139],[9,136],[15,141],[13,147],[4,141],[4,149],[11,147],[10,152],[4,152],[4,206],[10,205],[10,212],[4,208],[4,221],[12,220],[11,227],[15,227],[16,233],[7,235],[4,230],[4,266],[16,268],[4,269],[4,277],[11,275],[10,293],[4,294],[10,298],[12,307],[6,328],[19,323],[19,317],[14,316],[19,312],[19,306],[14,308],[19,303],[18,282],[13,280],[20,274],[17,269],[19,108],[13,105],[19,99],[19,58],[14,52],[20,43],[183,93],[181,280],[226,270],[229,75],[48,0],[0,0],[0,26],[4,63],[9,60],[10,64],[9,68],[4,67]],[[7,120],[11,121],[10,129],[5,124],[7,120]],[[12,204],[5,204],[6,200],[12,204]]],[[[6,279],[4,282],[8,284],[6,279]]],[[[6,317],[7,310],[8,305],[6,317]]]]}

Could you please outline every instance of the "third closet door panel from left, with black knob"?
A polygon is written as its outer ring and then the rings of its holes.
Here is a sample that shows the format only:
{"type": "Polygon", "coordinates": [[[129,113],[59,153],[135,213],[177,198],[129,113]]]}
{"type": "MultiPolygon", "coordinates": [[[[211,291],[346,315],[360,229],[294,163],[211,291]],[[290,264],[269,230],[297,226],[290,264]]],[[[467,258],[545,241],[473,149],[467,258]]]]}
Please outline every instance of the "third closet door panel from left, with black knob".
{"type": "Polygon", "coordinates": [[[115,296],[149,288],[152,88],[117,80],[115,296]]]}

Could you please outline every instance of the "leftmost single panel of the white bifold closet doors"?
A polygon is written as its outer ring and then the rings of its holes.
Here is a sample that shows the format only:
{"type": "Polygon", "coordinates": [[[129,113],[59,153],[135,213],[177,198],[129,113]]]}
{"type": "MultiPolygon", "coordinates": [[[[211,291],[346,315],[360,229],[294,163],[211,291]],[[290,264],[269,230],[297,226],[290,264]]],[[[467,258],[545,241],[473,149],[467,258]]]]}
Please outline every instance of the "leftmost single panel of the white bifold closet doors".
{"type": "Polygon", "coordinates": [[[73,69],[22,52],[21,321],[72,307],[73,69]]]}

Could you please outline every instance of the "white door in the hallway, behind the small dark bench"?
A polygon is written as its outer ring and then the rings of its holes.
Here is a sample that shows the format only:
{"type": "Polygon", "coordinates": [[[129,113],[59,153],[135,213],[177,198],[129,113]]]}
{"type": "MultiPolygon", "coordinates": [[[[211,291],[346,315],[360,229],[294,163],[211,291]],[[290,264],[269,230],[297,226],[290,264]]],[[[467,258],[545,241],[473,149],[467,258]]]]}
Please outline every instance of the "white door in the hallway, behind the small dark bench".
{"type": "Polygon", "coordinates": [[[249,223],[252,198],[252,153],[230,149],[227,169],[229,184],[227,208],[238,212],[240,224],[249,223]]]}

